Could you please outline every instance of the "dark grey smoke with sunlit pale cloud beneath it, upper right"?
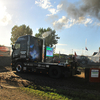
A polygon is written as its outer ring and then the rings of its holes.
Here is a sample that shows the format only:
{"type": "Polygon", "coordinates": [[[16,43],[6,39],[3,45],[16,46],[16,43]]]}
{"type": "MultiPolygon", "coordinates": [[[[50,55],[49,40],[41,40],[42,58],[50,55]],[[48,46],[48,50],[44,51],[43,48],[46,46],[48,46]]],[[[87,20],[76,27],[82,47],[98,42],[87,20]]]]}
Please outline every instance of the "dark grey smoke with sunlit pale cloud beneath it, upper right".
{"type": "Polygon", "coordinates": [[[60,5],[67,15],[53,22],[55,29],[70,28],[74,24],[87,26],[92,23],[92,19],[100,20],[100,0],[81,0],[76,3],[63,0],[60,5]]]}

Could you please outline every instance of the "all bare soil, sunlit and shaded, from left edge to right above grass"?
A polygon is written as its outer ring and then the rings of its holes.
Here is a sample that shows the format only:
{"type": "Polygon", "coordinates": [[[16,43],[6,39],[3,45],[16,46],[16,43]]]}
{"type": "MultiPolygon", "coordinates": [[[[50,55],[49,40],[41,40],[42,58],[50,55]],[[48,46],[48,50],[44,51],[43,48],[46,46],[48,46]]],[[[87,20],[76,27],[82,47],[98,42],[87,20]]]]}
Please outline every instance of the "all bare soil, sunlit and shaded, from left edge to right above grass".
{"type": "Polygon", "coordinates": [[[0,66],[0,100],[40,100],[19,89],[19,87],[29,85],[48,86],[54,89],[100,95],[100,83],[90,83],[85,80],[84,71],[81,75],[75,75],[74,77],[53,79],[48,74],[16,73],[16,71],[11,70],[10,66],[0,66]]]}

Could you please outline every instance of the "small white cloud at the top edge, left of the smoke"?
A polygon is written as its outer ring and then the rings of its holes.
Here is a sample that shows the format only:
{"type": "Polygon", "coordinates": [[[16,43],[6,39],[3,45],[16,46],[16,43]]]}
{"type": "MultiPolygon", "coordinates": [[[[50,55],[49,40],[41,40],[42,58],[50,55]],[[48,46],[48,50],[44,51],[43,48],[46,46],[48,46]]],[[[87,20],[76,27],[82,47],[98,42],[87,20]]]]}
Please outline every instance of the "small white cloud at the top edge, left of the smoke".
{"type": "Polygon", "coordinates": [[[49,2],[49,0],[36,0],[35,4],[42,7],[43,9],[48,9],[52,6],[51,2],[49,2]]]}

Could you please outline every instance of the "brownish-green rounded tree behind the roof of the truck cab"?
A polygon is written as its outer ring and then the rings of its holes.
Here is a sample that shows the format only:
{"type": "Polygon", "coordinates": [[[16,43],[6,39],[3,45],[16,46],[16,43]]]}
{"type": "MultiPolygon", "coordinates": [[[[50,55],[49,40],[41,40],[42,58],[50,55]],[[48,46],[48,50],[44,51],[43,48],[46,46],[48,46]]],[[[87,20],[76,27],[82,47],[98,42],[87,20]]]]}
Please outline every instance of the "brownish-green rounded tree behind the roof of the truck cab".
{"type": "Polygon", "coordinates": [[[11,32],[11,45],[15,44],[16,40],[18,39],[18,37],[23,36],[23,35],[32,35],[33,31],[32,29],[29,28],[29,26],[26,25],[21,25],[21,26],[17,26],[15,25],[12,28],[12,32],[11,32]]]}

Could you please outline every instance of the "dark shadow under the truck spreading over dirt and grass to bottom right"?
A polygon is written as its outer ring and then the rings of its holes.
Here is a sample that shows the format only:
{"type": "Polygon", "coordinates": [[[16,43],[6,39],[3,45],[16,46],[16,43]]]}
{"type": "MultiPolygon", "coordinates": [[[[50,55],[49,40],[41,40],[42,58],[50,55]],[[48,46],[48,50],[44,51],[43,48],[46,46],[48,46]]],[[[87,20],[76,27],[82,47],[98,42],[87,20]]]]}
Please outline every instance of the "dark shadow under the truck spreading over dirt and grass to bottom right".
{"type": "Polygon", "coordinates": [[[73,76],[69,78],[53,79],[41,73],[16,73],[21,78],[31,81],[28,88],[44,91],[44,93],[59,94],[71,100],[99,100],[100,84],[90,83],[85,78],[73,76]]]}

